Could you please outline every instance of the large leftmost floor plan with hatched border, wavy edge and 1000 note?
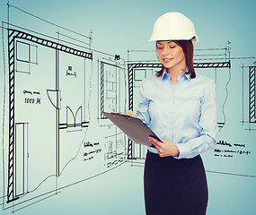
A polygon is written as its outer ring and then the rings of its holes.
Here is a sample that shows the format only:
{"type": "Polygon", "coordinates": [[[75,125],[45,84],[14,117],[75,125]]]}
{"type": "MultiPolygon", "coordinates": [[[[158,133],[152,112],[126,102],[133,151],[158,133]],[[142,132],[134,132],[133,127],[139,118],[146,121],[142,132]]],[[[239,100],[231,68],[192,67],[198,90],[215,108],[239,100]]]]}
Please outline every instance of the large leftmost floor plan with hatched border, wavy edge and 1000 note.
{"type": "Polygon", "coordinates": [[[92,64],[93,56],[18,30],[8,30],[8,36],[7,201],[12,202],[44,178],[60,176],[80,144],[72,142],[74,133],[83,141],[89,124],[84,104],[85,75],[90,71],[85,71],[85,64],[92,64]],[[66,150],[70,154],[63,153],[66,150]]]}

